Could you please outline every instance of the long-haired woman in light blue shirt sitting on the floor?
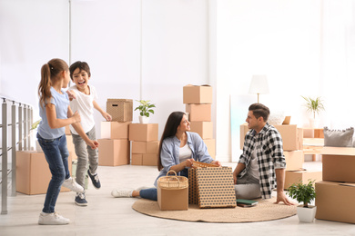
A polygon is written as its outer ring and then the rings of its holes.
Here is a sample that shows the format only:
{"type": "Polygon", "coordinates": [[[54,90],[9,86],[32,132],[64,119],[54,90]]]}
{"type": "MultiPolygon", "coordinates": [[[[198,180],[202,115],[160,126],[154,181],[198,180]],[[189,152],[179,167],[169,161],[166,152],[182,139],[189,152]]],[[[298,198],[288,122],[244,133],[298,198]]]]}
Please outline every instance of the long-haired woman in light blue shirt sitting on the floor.
{"type": "MultiPolygon", "coordinates": [[[[188,132],[189,130],[190,123],[186,113],[174,112],[169,115],[159,144],[157,169],[160,173],[157,179],[166,176],[170,170],[188,178],[188,168],[192,166],[194,160],[221,165],[208,154],[207,146],[198,133],[188,132]]],[[[157,186],[157,180],[154,185],[157,186]]],[[[140,196],[157,201],[157,188],[113,190],[111,194],[116,198],[140,196]]]]}

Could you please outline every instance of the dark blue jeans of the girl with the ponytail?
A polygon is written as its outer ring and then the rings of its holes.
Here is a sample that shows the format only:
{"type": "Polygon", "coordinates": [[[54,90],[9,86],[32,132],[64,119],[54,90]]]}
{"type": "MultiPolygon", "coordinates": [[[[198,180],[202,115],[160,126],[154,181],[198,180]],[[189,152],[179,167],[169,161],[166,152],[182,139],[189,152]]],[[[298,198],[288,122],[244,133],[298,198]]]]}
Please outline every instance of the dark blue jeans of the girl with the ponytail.
{"type": "Polygon", "coordinates": [[[67,158],[69,152],[66,148],[66,135],[56,139],[44,139],[37,133],[38,143],[43,152],[45,152],[46,162],[52,173],[52,179],[48,184],[46,191],[46,201],[43,212],[55,212],[56,199],[58,198],[60,188],[65,179],[70,177],[67,158]]]}

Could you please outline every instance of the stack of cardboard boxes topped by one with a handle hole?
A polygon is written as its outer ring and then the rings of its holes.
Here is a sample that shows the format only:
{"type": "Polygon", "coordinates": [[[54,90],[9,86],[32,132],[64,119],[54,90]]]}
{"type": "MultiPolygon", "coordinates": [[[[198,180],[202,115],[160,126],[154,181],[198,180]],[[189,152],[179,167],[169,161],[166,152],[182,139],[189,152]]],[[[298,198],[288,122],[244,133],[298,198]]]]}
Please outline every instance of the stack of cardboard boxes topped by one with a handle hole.
{"type": "Polygon", "coordinates": [[[112,122],[101,123],[101,139],[98,140],[98,164],[117,166],[129,164],[130,143],[128,127],[132,123],[133,101],[131,99],[108,99],[106,112],[112,122]]]}

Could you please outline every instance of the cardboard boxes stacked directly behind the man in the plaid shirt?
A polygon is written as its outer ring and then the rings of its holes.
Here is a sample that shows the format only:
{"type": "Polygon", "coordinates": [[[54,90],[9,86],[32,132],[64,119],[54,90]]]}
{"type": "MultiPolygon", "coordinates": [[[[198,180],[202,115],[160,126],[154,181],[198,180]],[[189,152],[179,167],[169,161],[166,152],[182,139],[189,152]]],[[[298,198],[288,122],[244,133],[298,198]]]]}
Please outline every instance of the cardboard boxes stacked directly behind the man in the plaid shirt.
{"type": "MultiPolygon", "coordinates": [[[[296,124],[273,125],[281,134],[283,153],[286,161],[285,190],[295,182],[321,181],[321,172],[312,172],[303,169],[303,130],[296,124]]],[[[240,149],[243,149],[245,135],[248,133],[248,124],[240,125],[240,149]]]]}

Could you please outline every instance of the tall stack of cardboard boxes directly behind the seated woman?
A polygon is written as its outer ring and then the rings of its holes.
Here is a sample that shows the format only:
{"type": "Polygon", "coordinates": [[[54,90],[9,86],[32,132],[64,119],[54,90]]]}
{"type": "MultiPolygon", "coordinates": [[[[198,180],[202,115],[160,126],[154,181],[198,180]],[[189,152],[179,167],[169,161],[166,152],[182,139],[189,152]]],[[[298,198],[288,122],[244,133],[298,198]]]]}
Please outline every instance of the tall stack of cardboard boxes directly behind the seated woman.
{"type": "Polygon", "coordinates": [[[188,84],[183,87],[183,103],[190,122],[191,132],[198,133],[208,147],[209,155],[216,158],[216,140],[213,139],[211,117],[212,87],[188,84]]]}

